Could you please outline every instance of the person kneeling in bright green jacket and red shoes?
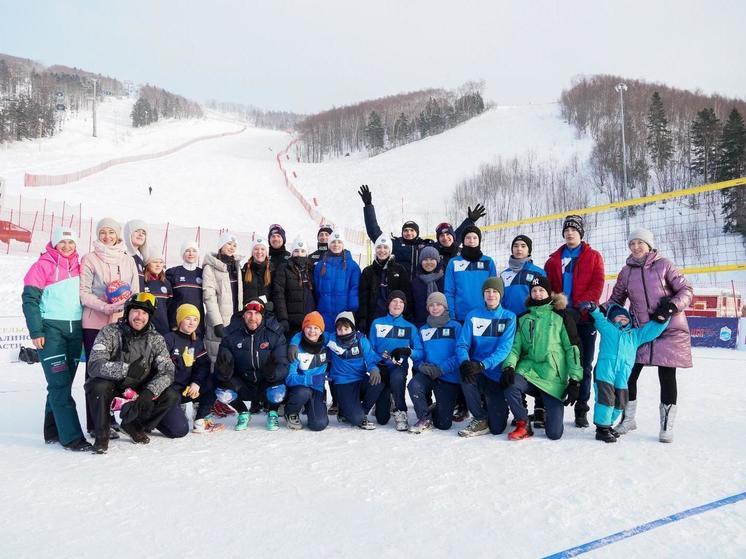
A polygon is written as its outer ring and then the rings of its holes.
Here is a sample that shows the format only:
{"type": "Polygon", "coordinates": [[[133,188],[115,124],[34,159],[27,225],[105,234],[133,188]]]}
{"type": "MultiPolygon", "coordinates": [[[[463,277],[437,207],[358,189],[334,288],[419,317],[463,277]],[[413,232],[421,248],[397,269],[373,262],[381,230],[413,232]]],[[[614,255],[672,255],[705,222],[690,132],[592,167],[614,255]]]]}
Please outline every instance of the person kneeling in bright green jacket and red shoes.
{"type": "Polygon", "coordinates": [[[567,297],[553,294],[546,277],[531,281],[527,311],[518,317],[513,348],[503,362],[502,384],[516,428],[512,441],[533,435],[523,395],[544,398],[545,432],[557,440],[564,431],[564,406],[574,405],[583,367],[575,321],[567,314],[567,297]]]}

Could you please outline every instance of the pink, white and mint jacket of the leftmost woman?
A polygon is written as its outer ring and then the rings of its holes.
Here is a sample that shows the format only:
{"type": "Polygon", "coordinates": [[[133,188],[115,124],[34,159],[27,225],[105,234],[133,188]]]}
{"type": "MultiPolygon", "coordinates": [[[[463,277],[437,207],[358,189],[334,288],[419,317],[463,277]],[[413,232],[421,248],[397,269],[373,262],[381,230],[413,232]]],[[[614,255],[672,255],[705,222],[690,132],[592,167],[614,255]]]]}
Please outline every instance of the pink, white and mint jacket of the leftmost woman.
{"type": "Polygon", "coordinates": [[[44,336],[45,320],[77,322],[80,306],[80,262],[78,253],[64,257],[51,243],[23,278],[23,315],[31,338],[44,336]]]}

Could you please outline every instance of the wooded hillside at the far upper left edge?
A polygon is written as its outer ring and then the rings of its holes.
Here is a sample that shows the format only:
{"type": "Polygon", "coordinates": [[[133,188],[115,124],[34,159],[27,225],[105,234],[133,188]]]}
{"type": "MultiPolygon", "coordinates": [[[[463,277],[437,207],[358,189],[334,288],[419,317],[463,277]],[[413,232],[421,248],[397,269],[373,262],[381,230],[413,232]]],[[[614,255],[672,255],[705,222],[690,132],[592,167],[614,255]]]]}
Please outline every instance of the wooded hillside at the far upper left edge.
{"type": "Polygon", "coordinates": [[[0,55],[0,143],[53,135],[57,105],[71,112],[86,109],[93,96],[91,78],[98,80],[97,97],[124,92],[113,78],[0,55]]]}

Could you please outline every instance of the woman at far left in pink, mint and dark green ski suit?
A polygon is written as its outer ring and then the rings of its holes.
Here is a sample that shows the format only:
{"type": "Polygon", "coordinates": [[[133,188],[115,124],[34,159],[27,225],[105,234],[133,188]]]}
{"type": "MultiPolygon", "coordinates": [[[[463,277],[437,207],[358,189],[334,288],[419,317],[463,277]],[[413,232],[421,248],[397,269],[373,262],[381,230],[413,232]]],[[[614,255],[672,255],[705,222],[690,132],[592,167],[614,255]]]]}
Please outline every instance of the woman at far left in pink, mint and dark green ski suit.
{"type": "Polygon", "coordinates": [[[46,250],[23,280],[23,315],[47,380],[44,441],[67,450],[93,447],[80,428],[71,391],[83,348],[77,236],[55,227],[46,250]]]}

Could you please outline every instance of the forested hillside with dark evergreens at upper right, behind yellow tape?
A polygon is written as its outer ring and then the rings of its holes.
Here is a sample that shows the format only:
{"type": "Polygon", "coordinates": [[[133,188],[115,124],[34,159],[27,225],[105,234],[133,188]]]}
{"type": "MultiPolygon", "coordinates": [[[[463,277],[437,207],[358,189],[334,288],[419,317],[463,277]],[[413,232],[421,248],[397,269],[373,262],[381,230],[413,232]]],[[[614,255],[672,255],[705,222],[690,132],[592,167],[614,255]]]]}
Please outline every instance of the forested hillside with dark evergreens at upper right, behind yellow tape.
{"type": "MultiPolygon", "coordinates": [[[[583,77],[562,92],[562,114],[594,147],[594,184],[611,202],[746,174],[746,102],[618,76],[583,77]],[[620,99],[624,82],[627,184],[623,179],[620,99]],[[724,124],[723,124],[724,123],[724,124]]],[[[726,232],[746,235],[742,189],[724,191],[726,232]]],[[[712,197],[716,202],[715,196],[712,197]]]]}

